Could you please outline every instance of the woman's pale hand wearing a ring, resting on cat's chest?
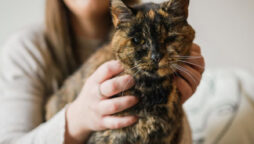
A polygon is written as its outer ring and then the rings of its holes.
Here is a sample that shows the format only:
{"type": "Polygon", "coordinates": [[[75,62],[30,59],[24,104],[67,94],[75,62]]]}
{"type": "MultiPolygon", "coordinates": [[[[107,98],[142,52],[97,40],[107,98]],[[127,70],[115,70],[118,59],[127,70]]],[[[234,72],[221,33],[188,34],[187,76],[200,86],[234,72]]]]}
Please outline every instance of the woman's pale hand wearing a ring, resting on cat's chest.
{"type": "Polygon", "coordinates": [[[110,61],[101,65],[87,79],[80,95],[67,110],[69,143],[84,142],[92,131],[119,129],[137,121],[135,116],[112,116],[138,102],[134,96],[110,99],[111,96],[131,88],[135,83],[129,75],[114,77],[122,71],[120,62],[110,61]]]}

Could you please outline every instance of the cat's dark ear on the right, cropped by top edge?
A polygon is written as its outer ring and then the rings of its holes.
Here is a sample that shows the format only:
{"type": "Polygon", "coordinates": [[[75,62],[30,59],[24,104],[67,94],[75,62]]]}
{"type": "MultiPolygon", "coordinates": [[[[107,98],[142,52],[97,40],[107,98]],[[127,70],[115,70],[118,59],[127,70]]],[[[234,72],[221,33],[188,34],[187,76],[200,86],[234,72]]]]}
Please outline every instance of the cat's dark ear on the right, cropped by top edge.
{"type": "Polygon", "coordinates": [[[175,16],[188,17],[189,0],[169,0],[161,4],[161,8],[175,16]]]}

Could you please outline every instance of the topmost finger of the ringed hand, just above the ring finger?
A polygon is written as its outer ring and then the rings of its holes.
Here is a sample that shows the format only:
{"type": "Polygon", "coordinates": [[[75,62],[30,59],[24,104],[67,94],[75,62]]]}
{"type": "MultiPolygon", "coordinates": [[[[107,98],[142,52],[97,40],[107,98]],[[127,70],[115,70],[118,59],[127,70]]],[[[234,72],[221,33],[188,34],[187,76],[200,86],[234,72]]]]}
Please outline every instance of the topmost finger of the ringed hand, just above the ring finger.
{"type": "Polygon", "coordinates": [[[119,61],[109,61],[102,64],[92,75],[91,79],[97,83],[102,83],[107,79],[119,74],[123,71],[123,66],[119,61]]]}

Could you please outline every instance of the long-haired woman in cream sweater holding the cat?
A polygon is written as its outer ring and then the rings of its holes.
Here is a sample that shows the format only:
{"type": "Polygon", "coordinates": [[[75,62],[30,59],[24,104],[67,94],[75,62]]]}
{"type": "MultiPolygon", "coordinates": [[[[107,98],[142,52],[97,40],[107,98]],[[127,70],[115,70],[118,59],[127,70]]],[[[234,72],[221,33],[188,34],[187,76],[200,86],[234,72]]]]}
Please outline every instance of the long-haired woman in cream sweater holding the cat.
{"type": "MultiPolygon", "coordinates": [[[[0,144],[84,143],[92,131],[118,129],[137,121],[134,116],[111,116],[134,106],[138,102],[134,96],[100,97],[121,92],[125,81],[132,81],[127,88],[135,83],[131,76],[110,79],[122,71],[117,61],[100,66],[77,100],[44,121],[47,96],[107,40],[110,29],[109,0],[47,0],[46,25],[14,35],[2,52],[0,144]],[[113,88],[114,84],[118,87],[113,88]]],[[[193,45],[192,55],[201,56],[197,45],[193,45]]],[[[202,58],[190,62],[204,65],[202,58]]],[[[203,69],[184,67],[199,82],[203,69]]],[[[184,102],[198,83],[181,75],[176,81],[184,102]]]]}

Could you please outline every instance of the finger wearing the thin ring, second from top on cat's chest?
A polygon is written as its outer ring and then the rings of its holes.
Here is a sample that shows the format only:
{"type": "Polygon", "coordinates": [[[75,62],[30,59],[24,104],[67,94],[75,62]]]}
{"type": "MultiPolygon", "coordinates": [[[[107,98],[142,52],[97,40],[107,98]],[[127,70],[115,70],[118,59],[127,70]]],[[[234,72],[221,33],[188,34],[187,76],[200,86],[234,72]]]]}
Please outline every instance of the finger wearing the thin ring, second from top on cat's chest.
{"type": "Polygon", "coordinates": [[[135,81],[132,76],[120,76],[103,82],[100,85],[100,91],[103,96],[111,97],[131,88],[134,83],[135,81]]]}

